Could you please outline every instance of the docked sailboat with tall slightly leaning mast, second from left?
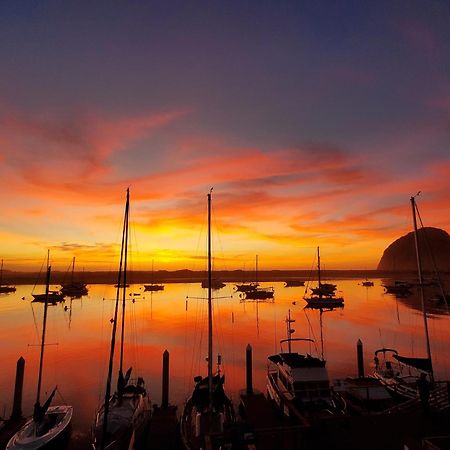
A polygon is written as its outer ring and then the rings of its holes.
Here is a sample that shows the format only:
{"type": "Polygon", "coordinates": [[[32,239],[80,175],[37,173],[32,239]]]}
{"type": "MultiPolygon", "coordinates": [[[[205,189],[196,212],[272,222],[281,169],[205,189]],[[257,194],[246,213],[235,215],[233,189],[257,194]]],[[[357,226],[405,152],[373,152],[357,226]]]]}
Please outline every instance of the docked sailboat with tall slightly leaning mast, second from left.
{"type": "Polygon", "coordinates": [[[129,237],[129,205],[130,192],[127,189],[125,214],[122,231],[119,273],[116,291],[114,319],[112,320],[111,345],[109,354],[108,376],[103,405],[99,408],[92,433],[92,448],[94,450],[128,450],[139,443],[149,423],[151,403],[145,389],[143,378],[132,380],[131,367],[123,373],[124,333],[125,333],[125,302],[127,286],[127,259],[129,237]],[[121,295],[122,294],[122,295],[121,295]],[[120,365],[117,379],[117,389],[111,395],[111,382],[114,363],[119,303],[122,297],[120,365]]]}

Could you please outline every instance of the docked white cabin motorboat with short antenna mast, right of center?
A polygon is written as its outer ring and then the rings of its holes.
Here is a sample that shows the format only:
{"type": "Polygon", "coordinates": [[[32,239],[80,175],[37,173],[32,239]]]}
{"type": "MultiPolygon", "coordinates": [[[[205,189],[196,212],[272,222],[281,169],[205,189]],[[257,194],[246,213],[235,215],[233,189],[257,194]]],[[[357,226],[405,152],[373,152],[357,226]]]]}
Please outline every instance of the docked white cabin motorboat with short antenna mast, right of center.
{"type": "Polygon", "coordinates": [[[326,361],[309,353],[292,351],[292,343],[314,343],[309,338],[292,338],[295,330],[289,310],[286,317],[287,339],[280,341],[281,351],[268,357],[267,394],[288,417],[304,417],[310,420],[342,414],[345,402],[330,386],[326,361]],[[283,351],[287,343],[288,351],[283,351]]]}

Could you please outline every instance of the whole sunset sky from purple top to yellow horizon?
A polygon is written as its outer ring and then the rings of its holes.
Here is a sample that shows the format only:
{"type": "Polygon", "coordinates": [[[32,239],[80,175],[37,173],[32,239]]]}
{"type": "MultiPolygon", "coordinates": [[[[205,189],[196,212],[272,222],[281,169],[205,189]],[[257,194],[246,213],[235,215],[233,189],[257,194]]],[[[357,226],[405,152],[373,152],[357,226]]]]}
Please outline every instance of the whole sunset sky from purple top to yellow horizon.
{"type": "Polygon", "coordinates": [[[450,230],[447,1],[0,2],[1,255],[373,269],[450,230]]]}

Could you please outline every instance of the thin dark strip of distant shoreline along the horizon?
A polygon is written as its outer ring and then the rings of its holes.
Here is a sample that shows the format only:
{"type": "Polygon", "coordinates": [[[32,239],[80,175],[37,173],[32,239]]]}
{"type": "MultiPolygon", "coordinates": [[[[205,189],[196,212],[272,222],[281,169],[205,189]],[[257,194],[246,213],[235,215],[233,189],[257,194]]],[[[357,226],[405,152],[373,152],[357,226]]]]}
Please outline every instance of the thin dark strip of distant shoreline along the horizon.
{"type": "MultiPolygon", "coordinates": [[[[448,274],[448,273],[447,273],[448,274]]],[[[417,277],[416,272],[411,271],[379,271],[379,270],[323,270],[323,279],[345,279],[345,278],[408,278],[417,277]]],[[[426,274],[430,277],[432,274],[426,274]]],[[[70,282],[71,275],[67,272],[52,272],[51,284],[70,282]]],[[[201,282],[206,279],[205,271],[191,270],[160,270],[153,274],[149,271],[134,271],[127,274],[131,284],[138,283],[187,283],[201,282]]],[[[255,281],[254,271],[221,270],[213,273],[213,278],[228,283],[244,283],[255,281]]],[[[258,272],[258,281],[287,281],[292,279],[309,280],[316,279],[315,271],[310,270],[262,270],[258,272]]],[[[117,272],[83,272],[75,274],[76,281],[86,284],[115,284],[117,272]]],[[[3,272],[3,284],[44,284],[44,275],[36,272],[3,272]]]]}

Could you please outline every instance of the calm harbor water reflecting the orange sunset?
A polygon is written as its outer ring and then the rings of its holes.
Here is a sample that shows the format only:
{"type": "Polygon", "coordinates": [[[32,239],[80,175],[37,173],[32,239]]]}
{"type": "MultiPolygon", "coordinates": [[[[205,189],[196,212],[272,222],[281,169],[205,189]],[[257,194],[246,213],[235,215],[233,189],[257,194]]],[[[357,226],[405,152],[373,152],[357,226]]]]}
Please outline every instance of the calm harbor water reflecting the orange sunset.
{"type": "MultiPolygon", "coordinates": [[[[382,346],[425,355],[423,319],[416,295],[396,299],[383,294],[382,280],[374,280],[371,288],[362,287],[361,280],[335,282],[345,297],[345,308],[322,316],[331,378],[356,373],[355,346],[359,338],[364,343],[366,373],[372,369],[373,351],[382,346]]],[[[265,390],[266,358],[279,351],[278,343],[286,337],[288,309],[296,319],[295,337],[316,339],[317,349],[299,346],[298,351],[320,352],[319,312],[303,310],[304,288],[285,288],[284,283],[263,285],[274,286],[273,302],[242,301],[233,293],[232,284],[215,293],[220,297],[233,294],[232,298],[214,300],[214,353],[223,355],[226,388],[235,401],[245,385],[248,343],[253,346],[254,385],[265,390]]],[[[43,305],[30,302],[31,290],[32,286],[18,286],[17,292],[0,296],[0,415],[6,417],[11,411],[19,356],[26,360],[24,414],[31,413],[35,401],[43,305]]],[[[160,403],[162,353],[167,349],[170,401],[181,406],[193,388],[193,377],[206,374],[207,302],[199,298],[206,290],[199,284],[166,284],[164,291],[153,294],[144,293],[140,285],[132,285],[129,292],[140,296],[129,297],[127,303],[125,364],[145,378],[152,401],[160,403]]],[[[49,307],[43,391],[50,392],[58,385],[60,394],[55,401],[74,406],[71,448],[83,448],[104,395],[114,298],[113,286],[90,285],[88,296],[49,307]]],[[[428,305],[432,306],[430,302],[428,305]]],[[[450,379],[449,325],[446,311],[435,307],[429,327],[436,378],[450,379]]]]}

